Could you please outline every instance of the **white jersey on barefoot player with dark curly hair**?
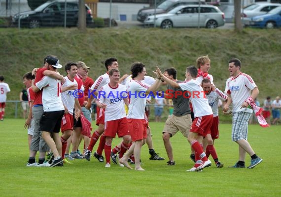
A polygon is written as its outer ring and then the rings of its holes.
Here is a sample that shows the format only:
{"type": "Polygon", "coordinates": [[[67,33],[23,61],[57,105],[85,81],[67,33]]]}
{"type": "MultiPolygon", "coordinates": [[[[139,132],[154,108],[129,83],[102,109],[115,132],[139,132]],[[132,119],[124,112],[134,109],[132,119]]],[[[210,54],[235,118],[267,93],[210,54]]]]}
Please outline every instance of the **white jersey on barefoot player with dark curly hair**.
{"type": "Polygon", "coordinates": [[[128,91],[130,96],[129,111],[127,118],[144,119],[144,109],[146,105],[146,90],[149,84],[131,80],[128,83],[128,91]]]}

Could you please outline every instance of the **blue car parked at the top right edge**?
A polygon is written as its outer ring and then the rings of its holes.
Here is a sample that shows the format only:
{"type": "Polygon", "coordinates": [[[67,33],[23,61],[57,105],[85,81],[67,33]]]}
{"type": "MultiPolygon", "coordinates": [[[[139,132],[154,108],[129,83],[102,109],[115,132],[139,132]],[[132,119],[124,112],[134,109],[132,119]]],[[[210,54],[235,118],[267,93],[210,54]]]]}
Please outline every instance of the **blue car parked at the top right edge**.
{"type": "Polygon", "coordinates": [[[271,10],[267,14],[253,17],[250,21],[250,27],[280,28],[281,27],[281,6],[271,10]]]}

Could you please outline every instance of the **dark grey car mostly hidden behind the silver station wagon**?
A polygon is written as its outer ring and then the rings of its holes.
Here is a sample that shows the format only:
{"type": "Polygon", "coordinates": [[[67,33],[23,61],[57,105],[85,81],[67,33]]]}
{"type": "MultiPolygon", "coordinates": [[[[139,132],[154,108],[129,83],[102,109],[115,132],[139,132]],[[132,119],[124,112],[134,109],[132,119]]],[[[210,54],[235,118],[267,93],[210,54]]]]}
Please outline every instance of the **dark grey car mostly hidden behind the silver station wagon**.
{"type": "Polygon", "coordinates": [[[201,2],[201,4],[206,4],[205,0],[162,0],[157,4],[156,10],[155,6],[140,9],[137,15],[137,20],[143,23],[147,16],[154,15],[154,13],[167,13],[179,5],[199,4],[199,2],[201,2]]]}

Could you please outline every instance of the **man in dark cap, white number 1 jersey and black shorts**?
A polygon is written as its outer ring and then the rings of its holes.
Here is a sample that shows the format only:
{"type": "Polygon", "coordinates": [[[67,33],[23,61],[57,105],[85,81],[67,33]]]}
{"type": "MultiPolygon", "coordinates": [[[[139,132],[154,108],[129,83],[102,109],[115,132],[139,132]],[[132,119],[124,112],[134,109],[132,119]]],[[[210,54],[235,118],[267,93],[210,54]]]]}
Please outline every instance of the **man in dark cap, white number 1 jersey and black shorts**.
{"type": "MultiPolygon", "coordinates": [[[[49,70],[56,71],[62,65],[59,64],[59,60],[56,57],[48,57],[46,59],[46,67],[49,67],[49,70]]],[[[63,159],[61,158],[62,142],[60,141],[59,132],[65,109],[62,102],[61,86],[60,80],[48,76],[43,77],[36,84],[32,84],[32,89],[35,92],[43,89],[42,104],[44,113],[40,118],[39,130],[42,131],[42,138],[54,154],[54,161],[50,167],[63,166],[63,159]]]]}

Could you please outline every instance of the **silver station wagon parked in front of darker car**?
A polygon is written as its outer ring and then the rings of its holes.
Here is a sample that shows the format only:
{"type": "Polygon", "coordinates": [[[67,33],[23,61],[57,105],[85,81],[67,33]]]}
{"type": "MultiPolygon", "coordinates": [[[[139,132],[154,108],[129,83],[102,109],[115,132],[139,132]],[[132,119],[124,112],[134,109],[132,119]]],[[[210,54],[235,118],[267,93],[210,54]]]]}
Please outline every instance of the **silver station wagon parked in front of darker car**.
{"type": "Polygon", "coordinates": [[[177,27],[198,27],[217,28],[225,23],[224,13],[213,5],[180,5],[165,14],[156,14],[148,16],[144,24],[154,24],[161,28],[177,28],[177,27]]]}

